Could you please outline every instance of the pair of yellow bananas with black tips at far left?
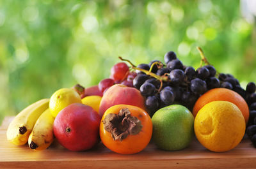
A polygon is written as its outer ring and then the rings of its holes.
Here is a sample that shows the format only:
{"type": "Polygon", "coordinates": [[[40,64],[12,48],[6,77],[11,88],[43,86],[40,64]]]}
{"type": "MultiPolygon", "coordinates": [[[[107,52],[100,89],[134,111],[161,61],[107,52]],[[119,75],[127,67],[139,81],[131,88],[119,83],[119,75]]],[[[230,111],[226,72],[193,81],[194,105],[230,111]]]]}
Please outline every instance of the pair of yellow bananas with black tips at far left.
{"type": "Polygon", "coordinates": [[[15,116],[8,126],[7,140],[15,145],[24,145],[29,141],[31,149],[46,149],[54,138],[53,121],[49,99],[40,99],[15,116]]]}

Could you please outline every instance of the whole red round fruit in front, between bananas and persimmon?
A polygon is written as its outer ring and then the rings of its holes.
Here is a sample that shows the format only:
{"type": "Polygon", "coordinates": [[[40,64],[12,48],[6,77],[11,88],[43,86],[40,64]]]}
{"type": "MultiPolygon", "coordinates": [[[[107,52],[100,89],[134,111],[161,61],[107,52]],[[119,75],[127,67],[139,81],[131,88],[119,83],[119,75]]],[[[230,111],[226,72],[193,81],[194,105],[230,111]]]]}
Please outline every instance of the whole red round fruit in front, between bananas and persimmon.
{"type": "Polygon", "coordinates": [[[73,103],[63,108],[53,123],[58,142],[70,151],[91,149],[99,142],[100,116],[92,107],[73,103]]]}

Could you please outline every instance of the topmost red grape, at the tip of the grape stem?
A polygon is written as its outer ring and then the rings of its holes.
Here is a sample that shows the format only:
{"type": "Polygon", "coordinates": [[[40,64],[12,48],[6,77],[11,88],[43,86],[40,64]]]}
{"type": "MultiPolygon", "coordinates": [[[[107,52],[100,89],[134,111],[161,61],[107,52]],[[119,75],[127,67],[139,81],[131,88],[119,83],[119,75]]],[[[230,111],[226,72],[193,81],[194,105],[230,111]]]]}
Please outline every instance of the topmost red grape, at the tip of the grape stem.
{"type": "Polygon", "coordinates": [[[122,82],[129,73],[129,66],[125,62],[118,62],[111,68],[110,77],[115,80],[115,83],[122,82]]]}

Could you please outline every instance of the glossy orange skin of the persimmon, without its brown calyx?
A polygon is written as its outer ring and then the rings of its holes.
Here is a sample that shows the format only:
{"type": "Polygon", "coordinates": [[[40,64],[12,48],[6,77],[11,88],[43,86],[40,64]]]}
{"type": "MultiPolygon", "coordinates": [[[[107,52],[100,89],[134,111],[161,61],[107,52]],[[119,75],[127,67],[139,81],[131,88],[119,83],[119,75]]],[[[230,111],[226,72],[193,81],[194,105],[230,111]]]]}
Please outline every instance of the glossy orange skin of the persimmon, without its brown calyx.
{"type": "Polygon", "coordinates": [[[145,110],[131,105],[115,105],[108,108],[100,121],[100,139],[102,143],[113,152],[119,154],[134,154],[147,147],[152,136],[152,121],[145,110]],[[128,108],[131,116],[137,117],[143,126],[137,135],[128,135],[124,140],[113,140],[111,133],[104,129],[103,120],[108,114],[118,114],[122,108],[128,108]]]}

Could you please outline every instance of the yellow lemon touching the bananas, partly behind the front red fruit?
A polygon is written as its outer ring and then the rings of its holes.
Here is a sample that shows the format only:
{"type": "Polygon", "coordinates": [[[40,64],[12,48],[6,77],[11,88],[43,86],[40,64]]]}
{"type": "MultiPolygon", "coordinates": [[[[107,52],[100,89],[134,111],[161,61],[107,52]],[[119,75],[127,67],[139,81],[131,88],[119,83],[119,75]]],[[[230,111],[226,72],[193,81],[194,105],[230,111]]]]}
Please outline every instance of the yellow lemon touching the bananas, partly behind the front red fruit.
{"type": "Polygon", "coordinates": [[[52,94],[49,101],[49,109],[53,117],[72,103],[82,103],[79,94],[74,89],[63,88],[52,94]]]}

